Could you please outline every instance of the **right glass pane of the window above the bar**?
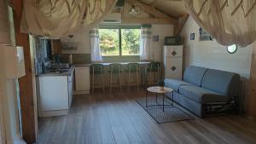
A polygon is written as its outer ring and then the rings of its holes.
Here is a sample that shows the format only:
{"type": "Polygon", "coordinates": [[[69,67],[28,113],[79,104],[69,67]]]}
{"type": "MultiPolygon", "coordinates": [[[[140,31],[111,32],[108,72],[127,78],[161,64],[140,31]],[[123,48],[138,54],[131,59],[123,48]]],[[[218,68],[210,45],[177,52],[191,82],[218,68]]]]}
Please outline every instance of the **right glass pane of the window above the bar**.
{"type": "Polygon", "coordinates": [[[122,55],[139,55],[140,29],[122,29],[122,55]]]}

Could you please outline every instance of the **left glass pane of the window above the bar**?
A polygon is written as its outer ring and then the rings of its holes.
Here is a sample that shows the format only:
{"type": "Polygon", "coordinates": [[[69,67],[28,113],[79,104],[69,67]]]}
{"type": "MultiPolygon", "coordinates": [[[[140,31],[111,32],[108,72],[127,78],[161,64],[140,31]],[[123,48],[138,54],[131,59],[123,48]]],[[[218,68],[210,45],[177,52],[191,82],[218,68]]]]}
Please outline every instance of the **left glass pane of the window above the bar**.
{"type": "Polygon", "coordinates": [[[119,29],[99,29],[103,56],[119,55],[119,29]]]}

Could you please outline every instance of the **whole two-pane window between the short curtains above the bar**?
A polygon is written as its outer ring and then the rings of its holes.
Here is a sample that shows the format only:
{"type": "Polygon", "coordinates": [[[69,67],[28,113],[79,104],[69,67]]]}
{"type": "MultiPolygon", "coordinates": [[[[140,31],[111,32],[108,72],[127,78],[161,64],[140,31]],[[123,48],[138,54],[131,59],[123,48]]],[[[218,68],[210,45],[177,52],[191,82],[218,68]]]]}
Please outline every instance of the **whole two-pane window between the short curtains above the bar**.
{"type": "Polygon", "coordinates": [[[139,55],[139,26],[100,27],[102,56],[139,55]]]}

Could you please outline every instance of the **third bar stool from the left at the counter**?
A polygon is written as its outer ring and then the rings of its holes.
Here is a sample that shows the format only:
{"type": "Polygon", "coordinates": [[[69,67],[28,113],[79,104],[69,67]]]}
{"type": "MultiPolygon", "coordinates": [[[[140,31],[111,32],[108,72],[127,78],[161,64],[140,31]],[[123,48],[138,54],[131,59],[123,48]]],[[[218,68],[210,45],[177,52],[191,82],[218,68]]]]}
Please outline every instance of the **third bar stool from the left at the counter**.
{"type": "MultiPolygon", "coordinates": [[[[126,73],[128,73],[128,87],[130,90],[131,85],[137,85],[137,90],[139,90],[139,64],[138,63],[129,63],[126,69],[126,73]],[[136,74],[136,82],[135,84],[131,84],[131,73],[136,74]]],[[[134,78],[134,77],[133,77],[134,78]]]]}

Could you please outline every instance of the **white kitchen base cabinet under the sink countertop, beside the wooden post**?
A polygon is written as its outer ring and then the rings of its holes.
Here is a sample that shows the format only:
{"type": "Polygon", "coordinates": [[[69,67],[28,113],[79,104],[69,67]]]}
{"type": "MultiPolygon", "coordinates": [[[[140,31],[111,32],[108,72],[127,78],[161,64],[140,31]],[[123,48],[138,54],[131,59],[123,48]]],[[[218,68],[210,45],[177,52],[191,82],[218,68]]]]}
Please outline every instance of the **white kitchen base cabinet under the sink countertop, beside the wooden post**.
{"type": "Polygon", "coordinates": [[[38,76],[39,117],[66,115],[73,101],[73,72],[38,76]]]}

